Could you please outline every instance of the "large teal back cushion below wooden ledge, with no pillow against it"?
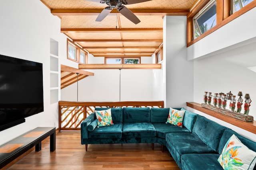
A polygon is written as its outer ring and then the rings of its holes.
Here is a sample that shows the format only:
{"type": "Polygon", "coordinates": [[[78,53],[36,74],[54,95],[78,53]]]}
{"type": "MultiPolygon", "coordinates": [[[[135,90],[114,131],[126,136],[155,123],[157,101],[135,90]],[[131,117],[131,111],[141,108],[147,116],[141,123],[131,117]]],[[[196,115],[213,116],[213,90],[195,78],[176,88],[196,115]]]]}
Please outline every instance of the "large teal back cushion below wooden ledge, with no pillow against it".
{"type": "Polygon", "coordinates": [[[198,115],[192,129],[192,133],[197,135],[206,145],[218,152],[220,139],[226,127],[198,115]]]}

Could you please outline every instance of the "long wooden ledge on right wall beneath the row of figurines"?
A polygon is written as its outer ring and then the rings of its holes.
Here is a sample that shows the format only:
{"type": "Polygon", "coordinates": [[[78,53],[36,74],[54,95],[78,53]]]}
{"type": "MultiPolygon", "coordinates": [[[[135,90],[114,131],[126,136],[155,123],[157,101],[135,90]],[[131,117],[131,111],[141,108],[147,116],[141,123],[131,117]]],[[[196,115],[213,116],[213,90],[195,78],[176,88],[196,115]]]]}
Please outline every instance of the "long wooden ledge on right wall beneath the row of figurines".
{"type": "Polygon", "coordinates": [[[201,111],[203,113],[206,113],[212,117],[216,117],[217,119],[220,119],[222,121],[226,121],[227,123],[240,127],[246,131],[256,134],[256,121],[253,121],[253,122],[241,121],[239,119],[223,115],[221,113],[212,111],[210,109],[206,109],[202,107],[201,104],[196,102],[187,102],[187,106],[193,109],[196,109],[198,111],[201,111]]]}

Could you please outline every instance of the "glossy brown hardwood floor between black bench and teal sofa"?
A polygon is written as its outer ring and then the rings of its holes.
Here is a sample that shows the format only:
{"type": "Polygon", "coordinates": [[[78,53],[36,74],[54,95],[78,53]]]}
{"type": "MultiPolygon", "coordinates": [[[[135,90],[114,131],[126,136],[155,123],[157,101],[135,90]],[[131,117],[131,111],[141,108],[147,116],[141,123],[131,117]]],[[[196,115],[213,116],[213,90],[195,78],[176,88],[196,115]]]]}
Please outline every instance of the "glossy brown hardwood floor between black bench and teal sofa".
{"type": "Polygon", "coordinates": [[[8,170],[180,170],[165,148],[155,144],[88,145],[80,142],[80,131],[62,131],[56,135],[56,150],[50,152],[50,140],[42,150],[34,150],[8,170]]]}

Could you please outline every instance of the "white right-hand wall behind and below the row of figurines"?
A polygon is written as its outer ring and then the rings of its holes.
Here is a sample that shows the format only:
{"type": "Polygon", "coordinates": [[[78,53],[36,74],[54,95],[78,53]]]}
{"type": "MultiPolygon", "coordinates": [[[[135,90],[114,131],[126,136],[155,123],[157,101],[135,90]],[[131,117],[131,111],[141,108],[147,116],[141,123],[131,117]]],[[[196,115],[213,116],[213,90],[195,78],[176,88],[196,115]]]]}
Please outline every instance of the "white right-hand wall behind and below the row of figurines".
{"type": "MultiPolygon", "coordinates": [[[[210,35],[188,47],[188,60],[194,61],[194,102],[202,103],[204,92],[228,93],[238,99],[250,94],[252,103],[249,115],[256,119],[256,72],[248,67],[256,66],[256,8],[246,12],[210,35]]],[[[244,102],[241,113],[244,113],[244,102]]],[[[241,135],[256,141],[256,134],[188,108],[241,135]]],[[[229,109],[229,101],[226,109],[229,109]]]]}

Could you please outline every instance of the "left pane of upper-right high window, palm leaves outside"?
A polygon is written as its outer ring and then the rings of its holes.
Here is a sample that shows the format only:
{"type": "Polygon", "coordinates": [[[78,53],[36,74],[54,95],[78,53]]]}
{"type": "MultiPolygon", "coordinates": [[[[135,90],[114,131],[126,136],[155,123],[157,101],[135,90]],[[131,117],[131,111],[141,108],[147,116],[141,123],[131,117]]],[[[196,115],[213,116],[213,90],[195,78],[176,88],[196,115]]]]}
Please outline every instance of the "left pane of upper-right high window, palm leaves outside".
{"type": "Polygon", "coordinates": [[[194,39],[216,25],[216,0],[211,0],[194,18],[194,39]]]}

